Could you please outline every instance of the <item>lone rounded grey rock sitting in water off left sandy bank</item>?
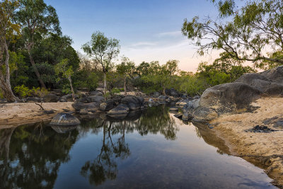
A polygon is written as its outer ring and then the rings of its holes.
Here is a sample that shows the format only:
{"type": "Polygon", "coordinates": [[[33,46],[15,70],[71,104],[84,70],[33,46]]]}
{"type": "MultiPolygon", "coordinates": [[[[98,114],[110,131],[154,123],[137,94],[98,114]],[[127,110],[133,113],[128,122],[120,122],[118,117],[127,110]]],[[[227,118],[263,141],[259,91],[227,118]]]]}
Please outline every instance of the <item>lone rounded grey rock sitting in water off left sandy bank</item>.
{"type": "Polygon", "coordinates": [[[57,125],[57,126],[71,126],[71,125],[79,125],[81,122],[78,118],[74,117],[69,113],[58,113],[54,116],[51,120],[50,125],[57,125]]]}

